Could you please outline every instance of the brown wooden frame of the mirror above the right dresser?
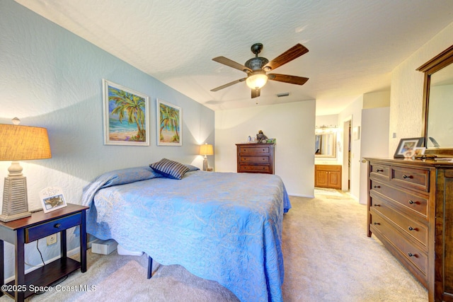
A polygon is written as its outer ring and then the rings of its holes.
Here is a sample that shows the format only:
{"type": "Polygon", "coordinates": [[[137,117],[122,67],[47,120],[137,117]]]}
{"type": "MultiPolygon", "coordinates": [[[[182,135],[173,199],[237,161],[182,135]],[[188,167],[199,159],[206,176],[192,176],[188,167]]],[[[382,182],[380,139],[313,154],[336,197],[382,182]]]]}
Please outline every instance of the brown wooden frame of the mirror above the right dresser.
{"type": "MultiPolygon", "coordinates": [[[[431,75],[440,69],[453,63],[453,45],[448,47],[437,56],[416,69],[425,73],[423,83],[423,115],[422,115],[422,137],[425,138],[424,146],[427,146],[428,139],[428,110],[430,105],[431,75]]],[[[425,154],[453,154],[453,148],[432,148],[426,149],[425,154]]]]}

